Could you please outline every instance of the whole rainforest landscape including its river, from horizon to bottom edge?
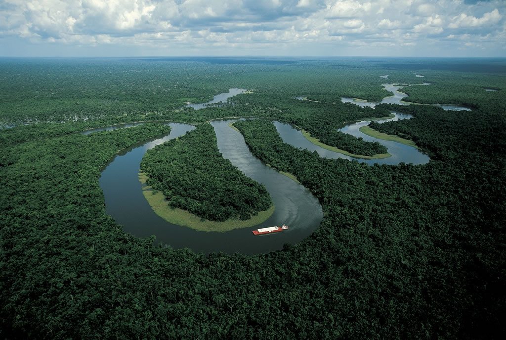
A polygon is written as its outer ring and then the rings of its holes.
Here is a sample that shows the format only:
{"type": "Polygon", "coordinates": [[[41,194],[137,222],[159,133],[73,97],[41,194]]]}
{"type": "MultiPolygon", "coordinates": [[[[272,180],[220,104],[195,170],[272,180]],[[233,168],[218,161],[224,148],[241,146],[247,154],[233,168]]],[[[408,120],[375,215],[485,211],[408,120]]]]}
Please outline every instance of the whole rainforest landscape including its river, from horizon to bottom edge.
{"type": "Polygon", "coordinates": [[[466,63],[0,58],[0,337],[503,338],[506,59],[466,63]]]}

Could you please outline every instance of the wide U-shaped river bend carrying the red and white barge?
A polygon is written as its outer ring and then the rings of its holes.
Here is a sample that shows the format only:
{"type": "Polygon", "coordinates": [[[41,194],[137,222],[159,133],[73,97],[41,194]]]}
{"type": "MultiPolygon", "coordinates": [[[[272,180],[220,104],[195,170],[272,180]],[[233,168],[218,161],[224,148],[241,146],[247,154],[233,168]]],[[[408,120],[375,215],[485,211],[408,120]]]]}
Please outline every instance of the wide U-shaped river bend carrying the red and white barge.
{"type": "Polygon", "coordinates": [[[171,123],[172,131],[163,138],[137,145],[117,155],[103,170],[100,187],[104,192],[106,211],[125,232],[137,237],[155,235],[158,242],[174,248],[190,248],[196,252],[223,251],[243,254],[265,253],[282,249],[285,243],[297,243],[309,236],[323,218],[321,206],[309,190],[267,167],[250,152],[242,135],[227,124],[212,123],[223,156],[246,176],[265,184],[274,204],[274,214],[264,223],[227,233],[197,232],[168,223],[156,215],[142,194],[138,173],[147,150],[194,129],[187,124],[171,123]],[[286,223],[290,229],[262,237],[251,234],[254,229],[286,223]]]}

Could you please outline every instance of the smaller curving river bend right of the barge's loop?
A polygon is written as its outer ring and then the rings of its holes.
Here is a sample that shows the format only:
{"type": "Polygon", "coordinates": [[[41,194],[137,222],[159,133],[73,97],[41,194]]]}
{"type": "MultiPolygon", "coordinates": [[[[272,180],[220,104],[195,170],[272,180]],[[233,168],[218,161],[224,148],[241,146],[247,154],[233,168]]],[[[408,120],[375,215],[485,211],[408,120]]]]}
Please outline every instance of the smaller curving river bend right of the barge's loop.
{"type": "MultiPolygon", "coordinates": [[[[392,112],[395,117],[384,120],[384,121],[378,121],[378,123],[384,123],[384,122],[390,122],[390,121],[397,121],[402,119],[410,119],[411,115],[405,115],[401,114],[399,112],[392,112]]],[[[373,164],[389,164],[389,165],[397,165],[401,162],[403,163],[412,163],[414,165],[417,164],[426,164],[429,162],[429,156],[421,153],[417,148],[404,145],[398,142],[390,141],[390,140],[383,140],[383,139],[377,139],[374,137],[370,137],[362,132],[360,132],[360,127],[368,125],[370,122],[368,121],[361,121],[358,123],[353,123],[346,125],[340,131],[344,133],[351,134],[355,137],[361,137],[366,141],[376,141],[378,143],[381,143],[382,145],[385,145],[388,149],[388,153],[392,155],[391,157],[384,158],[384,159],[374,159],[374,160],[365,160],[360,158],[353,158],[350,156],[346,156],[340,153],[336,153],[327,149],[324,149],[318,145],[315,145],[311,143],[309,140],[304,137],[302,132],[294,127],[292,127],[289,124],[281,123],[281,122],[274,122],[274,125],[276,126],[276,129],[278,133],[280,134],[283,141],[287,144],[293,145],[295,147],[300,147],[303,149],[308,149],[311,152],[316,151],[320,157],[324,158],[342,158],[347,160],[355,160],[359,163],[366,163],[369,165],[373,164]]]]}

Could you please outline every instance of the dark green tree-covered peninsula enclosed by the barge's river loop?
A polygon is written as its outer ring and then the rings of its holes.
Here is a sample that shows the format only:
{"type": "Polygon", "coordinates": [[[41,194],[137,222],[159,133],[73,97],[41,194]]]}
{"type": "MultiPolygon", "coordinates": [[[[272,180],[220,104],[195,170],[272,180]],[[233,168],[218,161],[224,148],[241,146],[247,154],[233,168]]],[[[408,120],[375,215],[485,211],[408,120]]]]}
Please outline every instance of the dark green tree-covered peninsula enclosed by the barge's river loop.
{"type": "MultiPolygon", "coordinates": [[[[209,124],[149,150],[141,171],[147,174],[149,186],[163,192],[168,206],[201,218],[248,220],[272,206],[264,185],[244,176],[222,157],[215,130],[209,124]]],[[[263,214],[265,219],[269,216],[263,214]]]]}

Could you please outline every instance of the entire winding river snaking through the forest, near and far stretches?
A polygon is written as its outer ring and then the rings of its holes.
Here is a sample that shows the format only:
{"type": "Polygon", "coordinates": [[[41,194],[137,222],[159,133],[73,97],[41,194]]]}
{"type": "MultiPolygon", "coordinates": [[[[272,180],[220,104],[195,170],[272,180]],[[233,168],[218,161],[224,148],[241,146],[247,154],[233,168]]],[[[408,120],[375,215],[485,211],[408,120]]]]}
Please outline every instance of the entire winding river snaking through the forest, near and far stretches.
{"type": "MultiPolygon", "coordinates": [[[[221,102],[234,94],[243,93],[242,89],[230,89],[226,94],[215,96],[213,101],[204,104],[189,104],[195,109],[203,108],[207,104],[221,102]]],[[[394,92],[392,103],[398,103],[403,94],[394,92]]],[[[411,116],[393,112],[395,117],[386,121],[409,119],[411,116]]],[[[243,254],[266,253],[282,249],[286,243],[294,244],[302,241],[318,228],[323,218],[322,208],[317,198],[301,184],[278,173],[263,164],[249,151],[242,135],[232,129],[228,124],[236,119],[214,120],[210,124],[216,132],[218,148],[223,157],[229,159],[234,166],[246,176],[266,186],[273,198],[275,211],[264,223],[251,228],[237,229],[226,233],[199,232],[172,223],[168,223],[149,206],[142,193],[142,184],[138,174],[140,163],[144,154],[150,148],[177,138],[194,129],[192,125],[181,123],[166,123],[171,126],[170,134],[139,143],[130,149],[120,152],[104,168],[100,177],[100,187],[104,193],[107,214],[123,226],[125,232],[137,237],[155,235],[157,242],[170,245],[174,248],[190,248],[196,252],[225,252],[243,254]],[[288,231],[267,237],[254,237],[251,230],[286,223],[290,226],[288,231]]],[[[286,143],[316,151],[320,156],[327,158],[344,158],[353,160],[349,156],[323,149],[307,140],[301,131],[291,125],[273,122],[286,143]]],[[[99,131],[109,131],[128,128],[143,123],[118,124],[83,132],[90,134],[99,131]]],[[[359,131],[361,126],[369,122],[363,121],[349,124],[341,129],[345,133],[362,137],[368,141],[378,141],[386,145],[392,157],[378,160],[355,159],[366,164],[399,164],[400,162],[424,164],[429,157],[420,153],[416,148],[393,141],[379,140],[369,137],[359,131]]]]}

